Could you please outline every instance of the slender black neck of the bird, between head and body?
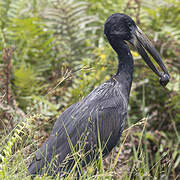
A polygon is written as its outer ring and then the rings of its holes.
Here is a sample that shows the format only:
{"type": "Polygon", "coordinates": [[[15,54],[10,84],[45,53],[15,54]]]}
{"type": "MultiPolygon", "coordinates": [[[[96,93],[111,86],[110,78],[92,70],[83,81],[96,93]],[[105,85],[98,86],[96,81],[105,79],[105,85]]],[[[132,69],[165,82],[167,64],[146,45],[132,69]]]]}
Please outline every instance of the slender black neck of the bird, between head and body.
{"type": "Polygon", "coordinates": [[[133,57],[128,45],[124,41],[118,41],[118,43],[111,45],[118,54],[119,63],[114,78],[120,84],[121,91],[129,96],[133,79],[133,57]]]}

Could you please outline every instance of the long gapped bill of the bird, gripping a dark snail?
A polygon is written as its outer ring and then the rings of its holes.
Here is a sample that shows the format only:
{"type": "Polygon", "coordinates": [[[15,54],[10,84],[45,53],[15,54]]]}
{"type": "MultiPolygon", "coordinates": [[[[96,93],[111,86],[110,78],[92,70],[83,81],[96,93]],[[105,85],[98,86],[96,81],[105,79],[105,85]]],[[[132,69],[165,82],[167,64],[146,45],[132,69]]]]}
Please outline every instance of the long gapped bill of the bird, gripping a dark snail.
{"type": "Polygon", "coordinates": [[[153,72],[160,77],[160,83],[163,86],[166,86],[170,79],[168,70],[166,69],[159,53],[152,45],[151,41],[146,37],[146,35],[142,32],[142,30],[138,26],[136,26],[134,30],[134,39],[133,41],[131,41],[131,44],[133,44],[136,47],[141,57],[144,59],[146,64],[153,70],[153,72]],[[157,70],[157,68],[149,58],[146,51],[153,57],[153,59],[157,62],[157,64],[163,70],[164,73],[160,73],[157,70]]]}

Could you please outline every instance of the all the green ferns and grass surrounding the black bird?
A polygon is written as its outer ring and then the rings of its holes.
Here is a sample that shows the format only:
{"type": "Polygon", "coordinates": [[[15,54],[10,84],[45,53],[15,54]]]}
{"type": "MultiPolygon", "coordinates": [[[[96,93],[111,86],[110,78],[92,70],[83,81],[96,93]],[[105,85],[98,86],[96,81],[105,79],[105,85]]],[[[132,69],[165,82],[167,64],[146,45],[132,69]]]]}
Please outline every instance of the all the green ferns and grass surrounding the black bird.
{"type": "Polygon", "coordinates": [[[115,12],[146,32],[171,82],[161,87],[132,50],[134,81],[119,145],[104,160],[101,147],[86,170],[83,146],[78,154],[72,148],[76,163],[67,179],[76,167],[80,179],[180,178],[180,1],[0,0],[0,179],[28,179],[27,166],[56,118],[116,72],[103,35],[115,12]]]}

